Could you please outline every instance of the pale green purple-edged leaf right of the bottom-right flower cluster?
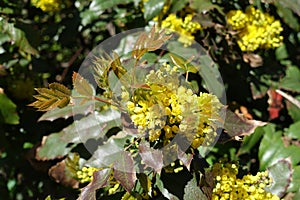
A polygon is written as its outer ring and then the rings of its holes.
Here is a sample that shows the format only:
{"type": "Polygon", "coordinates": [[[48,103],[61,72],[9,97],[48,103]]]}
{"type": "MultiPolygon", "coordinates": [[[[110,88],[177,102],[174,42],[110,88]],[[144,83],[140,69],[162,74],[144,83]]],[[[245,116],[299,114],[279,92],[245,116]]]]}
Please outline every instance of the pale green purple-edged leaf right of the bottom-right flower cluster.
{"type": "Polygon", "coordinates": [[[272,194],[283,197],[290,186],[292,179],[292,165],[288,159],[279,160],[268,168],[270,177],[273,180],[269,188],[272,194]]]}

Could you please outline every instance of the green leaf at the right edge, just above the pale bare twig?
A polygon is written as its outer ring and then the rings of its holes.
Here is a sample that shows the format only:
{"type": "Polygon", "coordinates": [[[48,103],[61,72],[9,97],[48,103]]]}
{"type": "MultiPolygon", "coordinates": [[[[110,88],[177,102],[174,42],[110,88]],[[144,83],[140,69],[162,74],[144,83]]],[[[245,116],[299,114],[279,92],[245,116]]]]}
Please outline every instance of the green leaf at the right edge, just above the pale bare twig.
{"type": "Polygon", "coordinates": [[[296,66],[289,66],[286,70],[286,76],[279,83],[279,87],[300,92],[300,69],[296,66]]]}

